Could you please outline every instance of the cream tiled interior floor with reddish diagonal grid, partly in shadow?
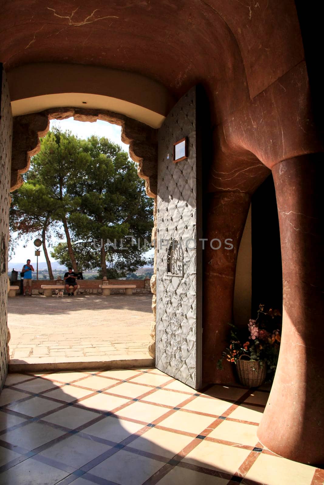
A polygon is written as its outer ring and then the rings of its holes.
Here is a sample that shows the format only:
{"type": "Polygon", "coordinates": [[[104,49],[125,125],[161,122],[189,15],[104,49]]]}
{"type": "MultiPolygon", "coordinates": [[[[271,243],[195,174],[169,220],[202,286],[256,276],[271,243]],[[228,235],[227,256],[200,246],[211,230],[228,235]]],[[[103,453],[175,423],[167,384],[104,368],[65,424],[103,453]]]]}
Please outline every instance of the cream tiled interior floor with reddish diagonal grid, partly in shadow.
{"type": "Polygon", "coordinates": [[[323,485],[258,442],[268,391],[195,392],[156,369],[10,374],[0,485],[323,485]]]}

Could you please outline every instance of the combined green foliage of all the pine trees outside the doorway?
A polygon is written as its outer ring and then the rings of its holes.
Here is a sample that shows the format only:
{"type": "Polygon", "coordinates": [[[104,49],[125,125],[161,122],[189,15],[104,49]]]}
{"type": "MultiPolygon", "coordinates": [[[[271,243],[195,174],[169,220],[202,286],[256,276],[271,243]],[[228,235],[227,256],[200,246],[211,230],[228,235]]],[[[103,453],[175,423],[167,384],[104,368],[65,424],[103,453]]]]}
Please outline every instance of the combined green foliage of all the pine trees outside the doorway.
{"type": "Polygon", "coordinates": [[[52,257],[66,266],[73,258],[79,269],[101,267],[102,273],[120,277],[147,263],[144,239],[151,238],[152,212],[153,200],[145,194],[136,164],[120,146],[53,128],[41,139],[25,183],[13,195],[10,227],[25,236],[46,232],[48,238],[62,238],[64,227],[67,242],[57,244],[52,257]],[[127,235],[140,238],[139,247],[127,235]],[[116,245],[96,250],[93,241],[101,239],[117,240],[116,245]]]}

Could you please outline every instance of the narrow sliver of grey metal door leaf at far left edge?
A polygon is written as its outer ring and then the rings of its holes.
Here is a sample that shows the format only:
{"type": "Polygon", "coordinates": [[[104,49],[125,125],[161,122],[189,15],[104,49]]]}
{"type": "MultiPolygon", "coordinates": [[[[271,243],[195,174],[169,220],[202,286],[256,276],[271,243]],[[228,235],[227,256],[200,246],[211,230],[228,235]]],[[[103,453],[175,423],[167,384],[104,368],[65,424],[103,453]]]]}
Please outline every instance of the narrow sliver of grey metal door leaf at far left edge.
{"type": "Polygon", "coordinates": [[[9,90],[2,65],[0,64],[1,81],[1,117],[0,117],[0,389],[6,375],[8,363],[8,327],[7,327],[7,255],[9,242],[9,205],[10,205],[10,165],[12,145],[12,113],[9,90]],[[2,76],[1,76],[2,72],[2,76]]]}

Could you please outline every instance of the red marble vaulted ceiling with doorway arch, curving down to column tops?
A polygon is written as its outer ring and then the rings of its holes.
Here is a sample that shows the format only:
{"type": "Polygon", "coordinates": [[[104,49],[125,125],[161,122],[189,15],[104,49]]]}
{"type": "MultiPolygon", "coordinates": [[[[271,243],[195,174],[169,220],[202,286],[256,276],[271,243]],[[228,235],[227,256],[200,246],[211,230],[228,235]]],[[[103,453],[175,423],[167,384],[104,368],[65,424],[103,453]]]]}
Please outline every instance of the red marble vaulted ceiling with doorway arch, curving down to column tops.
{"type": "Polygon", "coordinates": [[[156,128],[202,83],[214,127],[208,190],[253,192],[269,173],[263,164],[315,149],[293,0],[2,0],[1,12],[0,62],[11,94],[30,89],[12,99],[51,94],[59,85],[69,93],[67,83],[79,83],[77,93],[103,91],[144,107],[134,117],[156,128]],[[36,70],[26,74],[35,63],[52,66],[47,80],[36,70]],[[79,74],[67,74],[75,66],[79,74]],[[146,121],[147,113],[150,120],[157,114],[155,121],[146,121]]]}

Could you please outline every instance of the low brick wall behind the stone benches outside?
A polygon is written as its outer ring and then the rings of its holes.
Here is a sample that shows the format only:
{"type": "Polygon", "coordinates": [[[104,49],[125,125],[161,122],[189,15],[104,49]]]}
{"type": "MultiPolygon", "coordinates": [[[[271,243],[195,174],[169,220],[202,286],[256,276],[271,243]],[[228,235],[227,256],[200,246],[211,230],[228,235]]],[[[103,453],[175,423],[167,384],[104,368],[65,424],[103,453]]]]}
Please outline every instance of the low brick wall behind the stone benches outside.
{"type": "MultiPolygon", "coordinates": [[[[59,284],[62,285],[63,281],[62,280],[43,280],[43,279],[38,279],[38,280],[33,280],[32,283],[32,293],[34,295],[42,294],[44,293],[44,290],[41,288],[42,285],[54,285],[54,284],[59,284]]],[[[79,293],[83,294],[102,294],[102,289],[99,288],[99,285],[102,285],[102,279],[80,279],[78,280],[78,285],[80,285],[79,288],[79,293]]],[[[133,289],[133,293],[151,293],[151,287],[150,287],[150,280],[149,279],[127,279],[127,280],[118,280],[118,279],[113,279],[113,280],[107,280],[105,283],[109,285],[135,285],[136,288],[133,289]]],[[[18,281],[18,284],[20,282],[18,281]]],[[[111,294],[119,294],[119,293],[124,293],[125,290],[111,290],[111,294]]]]}

